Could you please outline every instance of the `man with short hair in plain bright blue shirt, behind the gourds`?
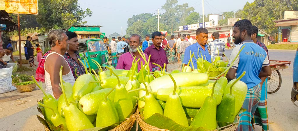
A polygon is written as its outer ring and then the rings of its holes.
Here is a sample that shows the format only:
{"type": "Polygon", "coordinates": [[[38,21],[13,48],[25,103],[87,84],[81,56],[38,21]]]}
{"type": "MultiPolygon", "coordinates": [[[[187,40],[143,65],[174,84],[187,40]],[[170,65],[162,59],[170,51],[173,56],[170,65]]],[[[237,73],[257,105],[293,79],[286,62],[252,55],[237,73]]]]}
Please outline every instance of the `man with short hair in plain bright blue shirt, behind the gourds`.
{"type": "Polygon", "coordinates": [[[198,69],[196,59],[201,58],[201,55],[203,56],[204,59],[206,59],[211,63],[211,56],[207,49],[208,30],[203,27],[198,28],[195,31],[195,38],[197,39],[197,43],[192,44],[185,49],[184,59],[182,61],[182,63],[184,63],[184,66],[187,66],[188,61],[190,61],[190,56],[194,54],[192,58],[193,62],[190,62],[190,65],[189,65],[190,67],[192,67],[192,64],[193,64],[194,66],[193,70],[198,69]],[[191,51],[191,54],[190,54],[190,51],[191,51]]]}

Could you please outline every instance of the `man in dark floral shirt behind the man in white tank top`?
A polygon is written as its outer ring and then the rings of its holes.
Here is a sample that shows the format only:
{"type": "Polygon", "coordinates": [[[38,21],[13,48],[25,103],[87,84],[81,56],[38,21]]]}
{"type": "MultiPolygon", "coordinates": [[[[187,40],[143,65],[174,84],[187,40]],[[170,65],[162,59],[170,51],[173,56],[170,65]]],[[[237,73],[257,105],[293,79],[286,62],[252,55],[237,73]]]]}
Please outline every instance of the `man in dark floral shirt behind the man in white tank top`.
{"type": "Polygon", "coordinates": [[[72,74],[77,79],[77,76],[85,74],[85,68],[83,64],[80,63],[80,54],[77,52],[79,50],[79,42],[77,38],[77,33],[66,31],[65,34],[67,35],[70,43],[69,43],[69,49],[64,54],[64,58],[67,61],[67,63],[70,66],[70,69],[72,70],[72,74]],[[75,70],[77,69],[77,73],[75,73],[75,70]]]}

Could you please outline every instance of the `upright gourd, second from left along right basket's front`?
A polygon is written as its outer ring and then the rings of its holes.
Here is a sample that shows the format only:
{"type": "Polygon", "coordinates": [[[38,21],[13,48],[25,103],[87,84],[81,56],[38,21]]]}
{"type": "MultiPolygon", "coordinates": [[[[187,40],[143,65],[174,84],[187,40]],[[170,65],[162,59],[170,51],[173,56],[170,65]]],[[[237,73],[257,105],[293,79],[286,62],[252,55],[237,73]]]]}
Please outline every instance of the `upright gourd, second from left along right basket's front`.
{"type": "Polygon", "coordinates": [[[176,82],[171,74],[169,74],[172,81],[174,82],[174,90],[173,93],[169,95],[167,98],[167,103],[164,108],[164,116],[172,119],[176,123],[188,127],[188,121],[185,115],[185,112],[182,108],[182,104],[180,101],[179,95],[176,93],[176,82]]]}

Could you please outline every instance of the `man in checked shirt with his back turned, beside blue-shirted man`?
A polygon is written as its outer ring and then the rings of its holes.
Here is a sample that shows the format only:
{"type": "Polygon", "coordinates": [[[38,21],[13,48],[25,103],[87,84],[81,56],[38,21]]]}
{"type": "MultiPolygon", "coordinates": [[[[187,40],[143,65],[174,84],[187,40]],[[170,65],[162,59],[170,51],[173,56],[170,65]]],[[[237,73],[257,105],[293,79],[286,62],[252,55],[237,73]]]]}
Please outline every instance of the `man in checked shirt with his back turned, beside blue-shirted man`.
{"type": "Polygon", "coordinates": [[[218,38],[219,38],[219,33],[213,32],[212,33],[213,41],[209,42],[209,44],[208,44],[210,47],[210,55],[211,55],[212,61],[215,60],[215,57],[217,55],[221,57],[221,60],[223,59],[223,53],[225,51],[226,45],[225,45],[224,41],[221,41],[218,38]]]}

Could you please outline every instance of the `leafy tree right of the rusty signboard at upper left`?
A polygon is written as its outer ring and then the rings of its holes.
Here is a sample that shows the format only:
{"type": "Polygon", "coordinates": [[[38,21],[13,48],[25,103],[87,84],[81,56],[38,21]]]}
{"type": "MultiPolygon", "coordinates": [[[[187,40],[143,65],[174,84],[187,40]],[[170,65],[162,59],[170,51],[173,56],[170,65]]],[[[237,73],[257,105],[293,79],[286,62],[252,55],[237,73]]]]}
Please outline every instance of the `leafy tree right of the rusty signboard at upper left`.
{"type": "Polygon", "coordinates": [[[91,16],[88,8],[86,11],[80,8],[78,0],[38,0],[37,21],[46,30],[54,26],[67,28],[71,25],[86,24],[83,19],[91,16]]]}

